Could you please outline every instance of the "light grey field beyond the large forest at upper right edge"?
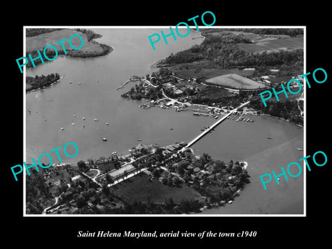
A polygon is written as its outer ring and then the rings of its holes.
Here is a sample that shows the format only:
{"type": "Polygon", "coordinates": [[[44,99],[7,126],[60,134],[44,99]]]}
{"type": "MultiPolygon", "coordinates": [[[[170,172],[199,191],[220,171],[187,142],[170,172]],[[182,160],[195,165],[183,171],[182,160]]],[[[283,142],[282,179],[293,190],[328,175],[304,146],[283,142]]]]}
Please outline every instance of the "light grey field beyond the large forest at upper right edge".
{"type": "Polygon", "coordinates": [[[241,48],[249,53],[280,52],[282,50],[294,50],[304,48],[304,37],[290,37],[281,39],[263,39],[252,44],[239,44],[241,48]]]}

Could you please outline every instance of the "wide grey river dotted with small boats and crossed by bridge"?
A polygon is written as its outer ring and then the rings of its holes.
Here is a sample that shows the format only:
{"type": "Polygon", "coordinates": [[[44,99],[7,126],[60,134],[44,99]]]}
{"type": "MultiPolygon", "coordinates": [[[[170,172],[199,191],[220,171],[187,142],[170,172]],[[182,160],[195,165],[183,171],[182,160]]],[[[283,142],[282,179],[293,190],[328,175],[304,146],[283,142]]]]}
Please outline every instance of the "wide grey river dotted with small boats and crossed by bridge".
{"type": "MultiPolygon", "coordinates": [[[[163,30],[167,33],[167,29],[163,30]]],[[[138,106],[144,100],[120,97],[133,83],[116,90],[132,75],[145,76],[156,71],[151,65],[159,59],[201,43],[201,38],[192,39],[199,37],[198,33],[191,32],[177,41],[169,39],[168,45],[160,41],[153,50],[147,37],[160,33],[160,28],[95,28],[93,31],[102,35],[97,42],[114,48],[109,55],[86,59],[59,57],[26,71],[31,76],[64,75],[57,84],[26,94],[26,162],[51,149],[64,147],[67,142],[75,142],[79,149],[77,156],[68,158],[62,150],[59,155],[66,163],[76,163],[110,156],[113,151],[127,154],[128,149],[138,145],[138,138],[142,143],[162,146],[189,141],[202,127],[215,121],[193,116],[190,111],[141,109],[138,106]],[[107,138],[107,142],[102,138],[107,138]]],[[[204,214],[303,213],[303,175],[282,181],[281,185],[271,183],[268,190],[257,182],[260,174],[277,171],[280,166],[302,158],[302,151],[295,148],[303,147],[303,129],[275,118],[254,119],[253,123],[225,120],[193,146],[196,152],[206,152],[215,159],[249,163],[251,183],[234,203],[205,210],[204,214]],[[267,136],[273,139],[266,139],[267,136]]],[[[75,149],[68,147],[68,154],[74,153],[75,149]]],[[[53,163],[58,163],[55,152],[52,155],[53,163]]]]}

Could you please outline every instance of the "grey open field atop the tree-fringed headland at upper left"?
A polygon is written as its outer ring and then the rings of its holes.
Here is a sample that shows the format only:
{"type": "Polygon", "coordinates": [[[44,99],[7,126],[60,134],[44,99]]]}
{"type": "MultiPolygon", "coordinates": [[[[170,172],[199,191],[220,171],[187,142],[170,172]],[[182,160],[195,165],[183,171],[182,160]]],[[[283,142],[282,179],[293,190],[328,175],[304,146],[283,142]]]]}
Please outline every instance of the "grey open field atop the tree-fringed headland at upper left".
{"type": "MultiPolygon", "coordinates": [[[[67,39],[64,42],[64,47],[66,50],[72,50],[71,46],[69,45],[69,38],[74,35],[78,34],[83,38],[84,45],[80,50],[82,51],[98,51],[101,52],[102,48],[98,44],[92,44],[91,42],[87,41],[86,35],[82,32],[71,30],[71,29],[63,29],[63,30],[55,30],[50,33],[44,33],[41,35],[36,35],[34,37],[26,37],[26,51],[29,50],[42,50],[44,47],[48,45],[55,46],[57,50],[63,50],[61,44],[55,44],[55,42],[59,42],[62,39],[67,39]]],[[[81,40],[79,37],[73,37],[71,40],[74,47],[78,48],[81,45],[81,40]]],[[[51,49],[51,48],[50,48],[51,49]]],[[[41,51],[42,52],[42,51],[41,51]]]]}

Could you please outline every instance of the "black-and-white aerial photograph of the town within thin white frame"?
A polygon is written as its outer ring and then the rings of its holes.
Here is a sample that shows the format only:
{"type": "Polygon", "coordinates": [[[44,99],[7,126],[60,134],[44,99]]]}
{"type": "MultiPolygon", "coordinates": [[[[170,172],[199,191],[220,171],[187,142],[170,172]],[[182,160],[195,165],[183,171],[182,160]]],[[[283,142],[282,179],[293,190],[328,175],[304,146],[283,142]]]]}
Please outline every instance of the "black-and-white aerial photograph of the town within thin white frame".
{"type": "Polygon", "coordinates": [[[305,31],[25,27],[26,214],[304,214],[305,31]]]}

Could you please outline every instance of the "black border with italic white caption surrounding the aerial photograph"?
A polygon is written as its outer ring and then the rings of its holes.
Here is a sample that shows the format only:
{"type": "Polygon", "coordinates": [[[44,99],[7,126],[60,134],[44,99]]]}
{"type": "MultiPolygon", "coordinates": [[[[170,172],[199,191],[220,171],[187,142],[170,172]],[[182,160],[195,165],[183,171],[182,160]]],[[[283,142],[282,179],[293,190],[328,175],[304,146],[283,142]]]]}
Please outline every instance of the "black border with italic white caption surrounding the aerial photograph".
{"type": "MultiPolygon", "coordinates": [[[[83,4],[83,3],[82,3],[83,4]]],[[[92,5],[93,3],[91,3],[92,5]]],[[[299,246],[300,241],[327,238],[327,230],[323,228],[325,216],[329,216],[329,187],[327,183],[331,169],[331,159],[324,167],[312,167],[306,172],[306,217],[23,217],[23,183],[12,177],[10,167],[23,162],[23,75],[19,73],[15,59],[23,54],[23,26],[70,25],[70,26],[174,26],[205,11],[212,11],[216,16],[214,26],[306,26],[306,71],[313,72],[315,68],[324,68],[328,73],[328,80],[324,84],[312,84],[307,89],[306,100],[306,146],[307,155],[315,151],[329,153],[329,89],[331,77],[331,63],[329,62],[329,13],[328,6],[313,5],[290,6],[288,3],[265,3],[257,8],[254,3],[190,3],[190,8],[180,8],[178,4],[169,2],[139,3],[133,6],[127,2],[125,8],[112,3],[95,3],[95,6],[77,6],[77,3],[59,6],[30,6],[20,8],[15,12],[15,23],[8,24],[3,19],[6,31],[6,49],[4,49],[6,68],[2,73],[6,75],[6,91],[3,91],[3,131],[9,127],[6,136],[3,165],[3,178],[6,187],[3,188],[3,216],[10,218],[6,226],[5,238],[13,241],[15,237],[23,237],[26,243],[39,241],[40,247],[52,244],[53,239],[59,246],[66,243],[87,242],[96,243],[95,246],[115,246],[114,243],[135,242],[149,246],[152,243],[161,245],[171,242],[173,245],[180,239],[115,239],[115,238],[77,238],[79,230],[110,230],[123,232],[132,230],[149,232],[190,231],[201,232],[241,232],[242,230],[256,230],[257,237],[245,239],[182,239],[186,243],[202,243],[208,241],[216,246],[232,245],[243,242],[246,245],[270,246],[279,243],[280,246],[290,245],[289,241],[299,246]],[[92,12],[92,13],[91,13],[92,12]],[[27,15],[29,13],[29,15],[27,15]],[[49,14],[47,14],[49,13],[49,14]],[[22,17],[19,19],[19,17],[22,17]],[[9,69],[9,72],[8,72],[9,69]],[[9,214],[8,214],[9,212],[9,214]],[[21,232],[18,232],[21,231],[21,232]],[[30,239],[30,242],[29,242],[30,239]],[[268,240],[270,243],[263,243],[268,240]],[[59,243],[60,241],[66,241],[59,243]],[[286,241],[288,241],[286,243],[286,241]],[[40,243],[42,242],[42,243],[40,243]],[[259,243],[257,243],[259,242],[259,243]]],[[[188,3],[189,4],[189,3],[188,3]]],[[[3,17],[1,17],[3,18],[3,17]]],[[[5,36],[3,37],[5,39],[5,36]]],[[[3,46],[4,47],[4,46],[3,46]]],[[[6,132],[7,133],[7,132],[6,132]]],[[[4,133],[3,133],[4,134],[4,133]]],[[[327,224],[329,225],[329,224],[327,224]]],[[[14,240],[15,241],[15,240],[14,240]]],[[[317,241],[316,241],[317,242],[317,241]]],[[[77,244],[78,245],[78,244],[77,244]]],[[[122,244],[124,245],[124,244],[122,244]]],[[[178,245],[180,246],[180,245],[178,245]]],[[[234,245],[235,246],[235,245],[234,245]]]]}

